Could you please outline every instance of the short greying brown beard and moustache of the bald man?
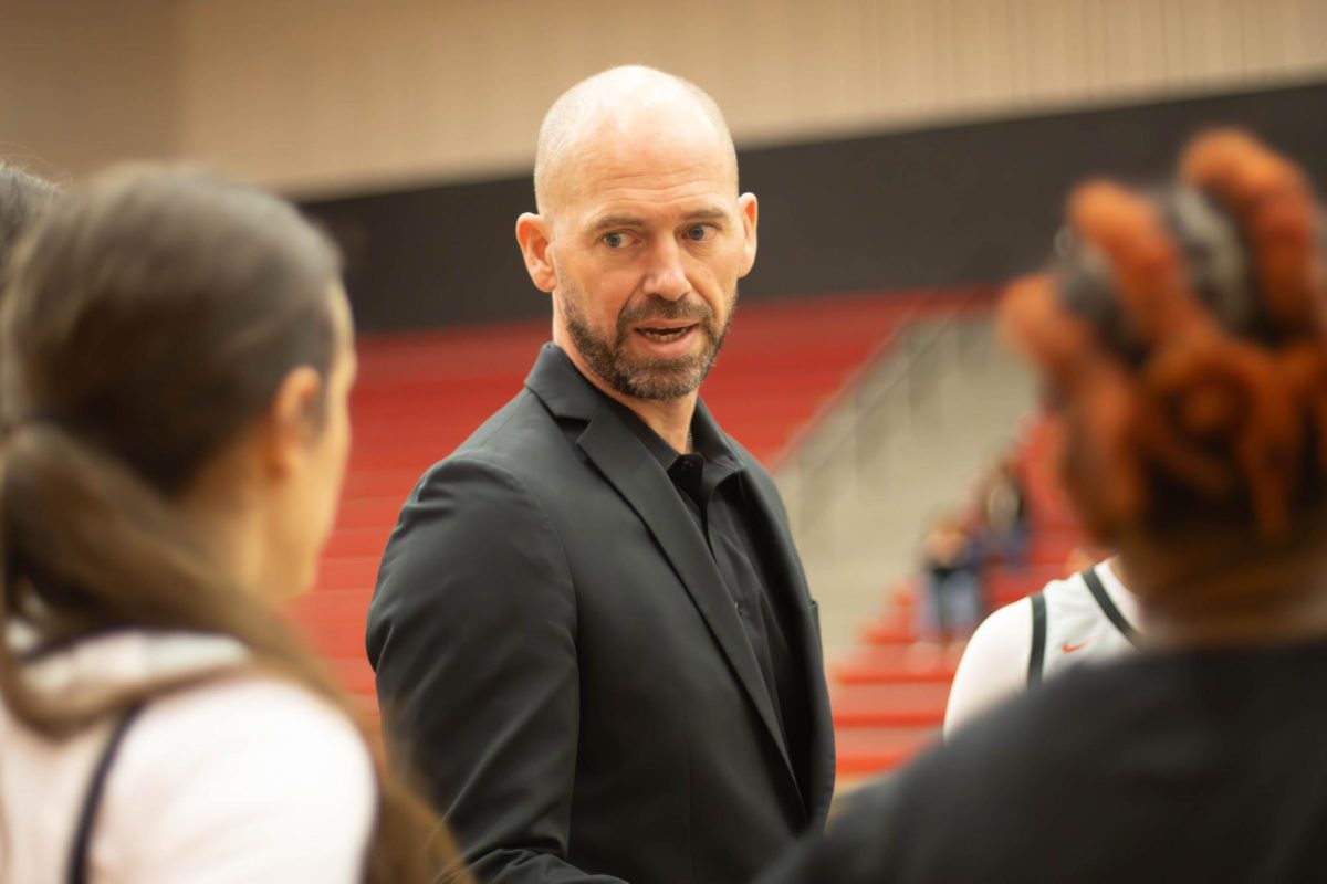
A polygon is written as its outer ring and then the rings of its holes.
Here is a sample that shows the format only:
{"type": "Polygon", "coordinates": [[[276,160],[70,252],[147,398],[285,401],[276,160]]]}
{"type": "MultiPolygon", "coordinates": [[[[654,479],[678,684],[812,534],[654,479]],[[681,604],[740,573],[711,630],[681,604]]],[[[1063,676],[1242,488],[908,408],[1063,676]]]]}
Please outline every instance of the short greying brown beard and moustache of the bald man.
{"type": "Polygon", "coordinates": [[[733,293],[729,314],[719,325],[714,309],[702,298],[687,296],[681,301],[669,301],[650,296],[637,306],[625,306],[617,315],[616,337],[596,333],[585,314],[580,310],[581,293],[563,285],[561,310],[567,333],[580,351],[581,358],[609,387],[632,399],[681,399],[695,392],[701,382],[710,374],[714,360],[719,358],[723,339],[736,309],[736,290],[733,293]],[[633,326],[641,326],[652,319],[694,322],[695,333],[705,346],[699,353],[677,359],[657,359],[634,357],[628,350],[633,326]]]}

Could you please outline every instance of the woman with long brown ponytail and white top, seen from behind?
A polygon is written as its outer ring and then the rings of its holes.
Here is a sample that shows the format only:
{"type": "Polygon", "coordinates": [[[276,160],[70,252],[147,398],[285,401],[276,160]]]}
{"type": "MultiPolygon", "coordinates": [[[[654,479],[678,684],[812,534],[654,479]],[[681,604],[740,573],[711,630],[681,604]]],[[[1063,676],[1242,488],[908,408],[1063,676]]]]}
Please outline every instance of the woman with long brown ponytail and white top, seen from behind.
{"type": "Polygon", "coordinates": [[[11,270],[0,880],[433,880],[434,818],[273,607],[345,469],[333,249],[272,196],[134,170],[11,270]]]}

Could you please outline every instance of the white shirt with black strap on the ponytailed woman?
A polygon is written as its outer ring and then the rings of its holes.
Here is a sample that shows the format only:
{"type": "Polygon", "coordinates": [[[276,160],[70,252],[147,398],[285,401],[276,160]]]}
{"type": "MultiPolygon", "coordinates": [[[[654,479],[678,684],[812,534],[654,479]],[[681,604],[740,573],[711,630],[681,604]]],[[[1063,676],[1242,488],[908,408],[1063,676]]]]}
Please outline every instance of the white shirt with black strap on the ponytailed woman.
{"type": "MultiPolygon", "coordinates": [[[[117,634],[28,668],[62,692],[234,663],[234,641],[117,634]]],[[[0,704],[0,880],[62,884],[111,722],[64,742],[0,704]]],[[[165,696],[130,725],[89,851],[96,884],[362,880],[377,779],[360,734],[308,691],[244,676],[165,696]]]]}

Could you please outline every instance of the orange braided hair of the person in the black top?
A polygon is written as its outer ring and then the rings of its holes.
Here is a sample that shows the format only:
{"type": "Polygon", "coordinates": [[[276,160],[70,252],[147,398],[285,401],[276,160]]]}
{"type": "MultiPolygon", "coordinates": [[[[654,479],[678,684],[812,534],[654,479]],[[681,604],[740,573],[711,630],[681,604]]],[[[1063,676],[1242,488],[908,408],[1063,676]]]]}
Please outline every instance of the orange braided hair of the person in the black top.
{"type": "Polygon", "coordinates": [[[1225,327],[1156,203],[1109,182],[1068,200],[1082,247],[1074,266],[1104,270],[1141,355],[1128,358],[1071,310],[1062,276],[1016,281],[1001,322],[1079,421],[1076,468],[1064,478],[1089,527],[1108,535],[1154,514],[1149,476],[1164,474],[1200,502],[1246,498],[1259,530],[1277,535],[1306,465],[1327,474],[1327,286],[1314,197],[1289,160],[1241,131],[1197,138],[1180,168],[1184,186],[1235,221],[1250,264],[1241,294],[1269,334],[1225,327]]]}

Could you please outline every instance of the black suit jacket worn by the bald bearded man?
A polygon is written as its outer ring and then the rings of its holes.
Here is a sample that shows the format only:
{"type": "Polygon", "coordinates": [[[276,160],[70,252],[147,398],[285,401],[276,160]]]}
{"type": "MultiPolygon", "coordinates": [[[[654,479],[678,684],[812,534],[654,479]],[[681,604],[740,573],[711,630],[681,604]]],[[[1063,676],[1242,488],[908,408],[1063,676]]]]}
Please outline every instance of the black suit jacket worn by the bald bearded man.
{"type": "Polygon", "coordinates": [[[815,603],[774,482],[733,449],[795,598],[807,794],[694,520],[561,350],[547,345],[525,390],[406,501],[369,660],[480,880],[738,884],[823,824],[835,761],[815,603]]]}

